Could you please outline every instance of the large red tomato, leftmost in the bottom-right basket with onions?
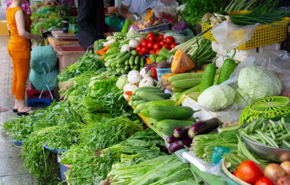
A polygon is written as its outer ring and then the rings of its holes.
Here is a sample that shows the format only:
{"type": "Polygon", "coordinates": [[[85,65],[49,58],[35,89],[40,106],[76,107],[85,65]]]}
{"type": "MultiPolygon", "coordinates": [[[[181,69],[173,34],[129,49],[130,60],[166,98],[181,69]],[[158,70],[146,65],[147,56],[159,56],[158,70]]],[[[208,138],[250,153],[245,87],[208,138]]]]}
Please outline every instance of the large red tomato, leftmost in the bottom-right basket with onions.
{"type": "Polygon", "coordinates": [[[263,169],[254,161],[243,161],[238,167],[238,175],[242,181],[254,184],[260,177],[263,177],[263,169]]]}

